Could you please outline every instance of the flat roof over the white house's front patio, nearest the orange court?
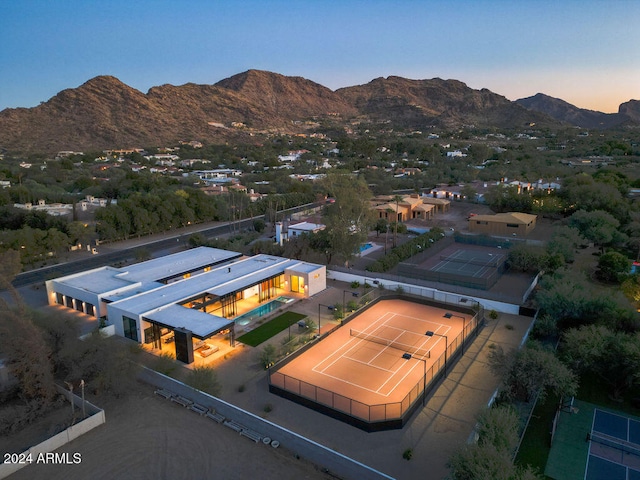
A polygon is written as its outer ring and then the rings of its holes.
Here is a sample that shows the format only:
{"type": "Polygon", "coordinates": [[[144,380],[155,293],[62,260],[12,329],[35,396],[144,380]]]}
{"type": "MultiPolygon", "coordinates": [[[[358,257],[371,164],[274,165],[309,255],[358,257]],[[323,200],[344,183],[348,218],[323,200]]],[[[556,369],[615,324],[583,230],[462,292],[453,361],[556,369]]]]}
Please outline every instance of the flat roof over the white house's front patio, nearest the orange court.
{"type": "Polygon", "coordinates": [[[181,305],[170,305],[167,308],[145,315],[145,319],[171,327],[191,330],[193,335],[206,338],[214,333],[231,328],[233,320],[218,317],[181,305]]]}

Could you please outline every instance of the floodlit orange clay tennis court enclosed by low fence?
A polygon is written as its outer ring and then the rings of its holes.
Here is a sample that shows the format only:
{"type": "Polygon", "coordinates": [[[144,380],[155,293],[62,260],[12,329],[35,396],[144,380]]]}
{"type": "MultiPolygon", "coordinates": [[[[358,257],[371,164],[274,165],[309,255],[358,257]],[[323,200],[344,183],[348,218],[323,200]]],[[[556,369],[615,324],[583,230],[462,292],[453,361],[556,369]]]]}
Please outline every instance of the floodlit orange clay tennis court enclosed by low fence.
{"type": "Polygon", "coordinates": [[[459,310],[379,300],[274,369],[270,386],[369,423],[400,419],[444,370],[445,347],[447,358],[460,347],[463,325],[466,336],[475,328],[475,312],[459,310]]]}

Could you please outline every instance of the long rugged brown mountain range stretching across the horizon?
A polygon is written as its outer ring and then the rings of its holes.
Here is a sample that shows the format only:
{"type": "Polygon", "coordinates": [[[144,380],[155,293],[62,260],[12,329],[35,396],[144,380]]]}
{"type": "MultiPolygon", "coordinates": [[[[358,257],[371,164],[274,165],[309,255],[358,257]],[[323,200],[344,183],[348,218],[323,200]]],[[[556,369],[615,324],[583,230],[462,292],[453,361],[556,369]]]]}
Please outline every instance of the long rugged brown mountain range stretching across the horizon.
{"type": "MultiPolygon", "coordinates": [[[[551,97],[532,98],[542,102],[551,97]]],[[[100,76],[37,107],[1,111],[0,149],[53,153],[159,146],[179,140],[248,141],[256,131],[299,133],[305,128],[301,121],[324,115],[345,125],[358,117],[415,129],[521,128],[532,123],[553,127],[560,121],[576,121],[567,119],[568,107],[564,116],[558,113],[560,100],[554,99],[555,109],[547,108],[551,113],[527,100],[511,102],[486,89],[438,78],[392,76],[332,91],[301,77],[249,70],[215,85],[162,85],[145,94],[117,78],[100,76]]],[[[640,123],[639,104],[627,102],[616,115],[640,123]]],[[[594,118],[610,118],[591,113],[594,118]]],[[[610,124],[619,123],[606,123],[610,124]]]]}

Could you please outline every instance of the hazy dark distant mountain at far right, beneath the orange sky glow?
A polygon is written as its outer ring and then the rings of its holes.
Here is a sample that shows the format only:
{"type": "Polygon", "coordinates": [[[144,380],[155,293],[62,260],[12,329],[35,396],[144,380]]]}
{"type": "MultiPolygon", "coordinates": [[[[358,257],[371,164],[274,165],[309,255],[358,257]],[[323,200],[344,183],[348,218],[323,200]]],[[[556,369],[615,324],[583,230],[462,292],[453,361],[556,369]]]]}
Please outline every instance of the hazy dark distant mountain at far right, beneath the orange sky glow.
{"type": "Polygon", "coordinates": [[[627,123],[640,123],[640,102],[631,100],[620,105],[618,113],[603,113],[578,108],[559,98],[538,93],[533,97],[521,98],[516,103],[530,110],[541,112],[561,122],[577,127],[605,129],[627,123]]]}

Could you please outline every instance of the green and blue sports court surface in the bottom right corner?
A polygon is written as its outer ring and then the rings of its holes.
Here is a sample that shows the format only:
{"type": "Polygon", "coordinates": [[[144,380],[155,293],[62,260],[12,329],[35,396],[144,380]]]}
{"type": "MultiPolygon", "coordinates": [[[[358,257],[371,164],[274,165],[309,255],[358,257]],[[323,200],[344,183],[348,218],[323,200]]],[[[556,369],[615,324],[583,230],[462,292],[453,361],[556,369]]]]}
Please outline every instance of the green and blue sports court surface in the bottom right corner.
{"type": "Polygon", "coordinates": [[[640,480],[640,419],[576,401],[560,413],[545,475],[640,480]]]}

